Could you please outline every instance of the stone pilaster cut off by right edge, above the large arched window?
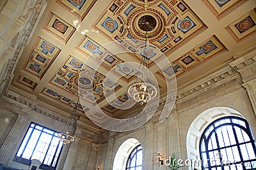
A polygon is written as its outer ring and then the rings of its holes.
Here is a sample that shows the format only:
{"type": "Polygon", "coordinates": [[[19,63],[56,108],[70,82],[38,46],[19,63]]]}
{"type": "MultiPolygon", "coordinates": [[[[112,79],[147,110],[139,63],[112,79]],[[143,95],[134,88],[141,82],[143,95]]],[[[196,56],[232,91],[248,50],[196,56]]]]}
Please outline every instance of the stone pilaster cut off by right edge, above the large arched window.
{"type": "Polygon", "coordinates": [[[252,103],[253,111],[256,115],[256,79],[243,83],[243,87],[246,89],[250,101],[252,103]]]}

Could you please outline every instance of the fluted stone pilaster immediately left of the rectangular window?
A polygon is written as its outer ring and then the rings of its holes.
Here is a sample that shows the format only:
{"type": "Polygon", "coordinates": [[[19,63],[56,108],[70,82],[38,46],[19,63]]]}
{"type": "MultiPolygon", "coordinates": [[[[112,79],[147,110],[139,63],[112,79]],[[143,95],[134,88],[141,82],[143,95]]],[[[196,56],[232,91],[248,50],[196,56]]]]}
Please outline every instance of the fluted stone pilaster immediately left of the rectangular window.
{"type": "Polygon", "coordinates": [[[18,115],[16,122],[13,124],[11,131],[4,140],[0,148],[0,163],[10,166],[17,150],[19,149],[20,141],[28,128],[28,118],[23,115],[18,115]]]}

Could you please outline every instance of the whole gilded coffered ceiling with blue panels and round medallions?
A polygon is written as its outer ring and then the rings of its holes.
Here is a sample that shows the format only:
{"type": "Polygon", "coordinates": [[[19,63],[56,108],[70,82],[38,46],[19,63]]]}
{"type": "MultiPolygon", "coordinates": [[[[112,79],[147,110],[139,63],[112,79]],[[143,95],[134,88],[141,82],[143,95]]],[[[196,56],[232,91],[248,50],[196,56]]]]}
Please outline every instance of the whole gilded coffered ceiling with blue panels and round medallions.
{"type": "Polygon", "coordinates": [[[256,2],[254,0],[57,0],[47,1],[29,44],[15,69],[10,89],[25,97],[36,97],[42,106],[68,117],[84,84],[79,119],[90,113],[104,121],[99,106],[111,117],[129,117],[128,85],[134,82],[145,44],[145,22],[149,22],[147,57],[170,61],[162,71],[150,60],[161,95],[172,70],[178,88],[227,64],[236,53],[255,45],[256,2]],[[128,40],[129,41],[128,41],[128,40]],[[111,46],[108,46],[109,43],[111,46]],[[114,45],[113,45],[114,44],[114,45]],[[114,49],[115,48],[115,49],[114,49]],[[125,53],[115,53],[122,49],[125,53]],[[100,67],[96,67],[100,65],[100,67]],[[173,68],[173,69],[172,69],[173,68]],[[115,76],[107,76],[113,71],[115,76]],[[83,80],[79,79],[79,73],[83,80]],[[115,77],[119,77],[115,81],[115,77]],[[106,96],[115,92],[108,101],[106,96]],[[120,110],[127,108],[127,110],[120,110]]]}

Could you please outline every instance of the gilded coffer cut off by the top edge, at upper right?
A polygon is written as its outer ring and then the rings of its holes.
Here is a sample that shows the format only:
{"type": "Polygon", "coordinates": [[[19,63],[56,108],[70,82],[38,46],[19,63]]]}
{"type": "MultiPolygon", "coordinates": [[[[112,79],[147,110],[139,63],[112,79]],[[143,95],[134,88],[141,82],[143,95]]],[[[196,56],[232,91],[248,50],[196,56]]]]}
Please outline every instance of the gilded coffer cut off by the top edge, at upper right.
{"type": "Polygon", "coordinates": [[[223,17],[246,0],[202,0],[216,18],[223,17]]]}

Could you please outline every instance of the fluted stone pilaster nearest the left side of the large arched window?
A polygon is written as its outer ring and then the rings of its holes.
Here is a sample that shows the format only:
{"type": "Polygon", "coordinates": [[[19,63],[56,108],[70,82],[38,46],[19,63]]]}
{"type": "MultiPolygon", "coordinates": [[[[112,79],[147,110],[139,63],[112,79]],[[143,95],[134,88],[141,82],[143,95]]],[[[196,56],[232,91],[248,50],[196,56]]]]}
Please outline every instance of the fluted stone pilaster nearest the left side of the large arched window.
{"type": "Polygon", "coordinates": [[[170,118],[168,118],[169,123],[169,155],[175,153],[179,158],[180,153],[180,131],[179,131],[179,114],[171,113],[170,118]]]}

